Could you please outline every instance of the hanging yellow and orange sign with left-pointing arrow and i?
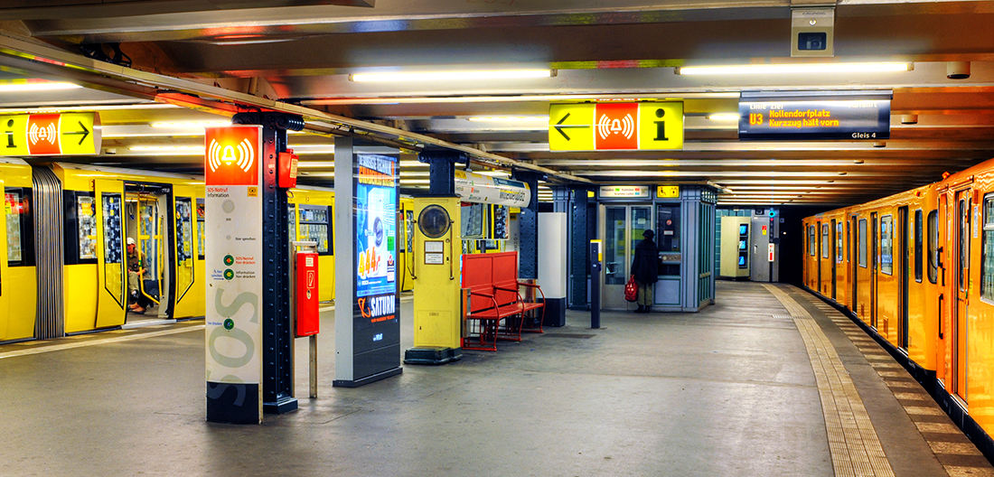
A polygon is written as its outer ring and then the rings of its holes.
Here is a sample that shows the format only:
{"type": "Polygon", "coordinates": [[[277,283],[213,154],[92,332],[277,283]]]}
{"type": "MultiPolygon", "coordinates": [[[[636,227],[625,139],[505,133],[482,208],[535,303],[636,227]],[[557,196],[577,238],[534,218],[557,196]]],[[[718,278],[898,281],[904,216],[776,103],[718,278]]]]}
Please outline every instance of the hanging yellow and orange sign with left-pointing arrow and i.
{"type": "Polygon", "coordinates": [[[549,108],[549,149],[683,149],[683,102],[552,104],[549,108]]]}

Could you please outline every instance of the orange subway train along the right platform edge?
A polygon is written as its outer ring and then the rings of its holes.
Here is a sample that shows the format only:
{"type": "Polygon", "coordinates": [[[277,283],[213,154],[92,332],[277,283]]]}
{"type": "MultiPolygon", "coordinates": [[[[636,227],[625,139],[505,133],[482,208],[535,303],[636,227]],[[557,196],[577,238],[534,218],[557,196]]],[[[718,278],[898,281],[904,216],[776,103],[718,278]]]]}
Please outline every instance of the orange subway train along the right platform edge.
{"type": "Polygon", "coordinates": [[[994,456],[994,159],[803,221],[803,283],[994,456]]]}

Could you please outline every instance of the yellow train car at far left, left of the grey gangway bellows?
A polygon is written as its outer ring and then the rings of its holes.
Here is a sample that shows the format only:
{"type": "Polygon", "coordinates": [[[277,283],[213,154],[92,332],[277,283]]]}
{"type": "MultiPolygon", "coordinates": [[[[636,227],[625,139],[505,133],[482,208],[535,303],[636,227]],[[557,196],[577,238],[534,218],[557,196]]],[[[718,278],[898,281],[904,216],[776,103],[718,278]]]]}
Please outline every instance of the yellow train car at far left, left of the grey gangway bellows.
{"type": "Polygon", "coordinates": [[[0,214],[0,343],[35,336],[38,278],[35,266],[31,166],[0,159],[4,214],[0,214]]]}

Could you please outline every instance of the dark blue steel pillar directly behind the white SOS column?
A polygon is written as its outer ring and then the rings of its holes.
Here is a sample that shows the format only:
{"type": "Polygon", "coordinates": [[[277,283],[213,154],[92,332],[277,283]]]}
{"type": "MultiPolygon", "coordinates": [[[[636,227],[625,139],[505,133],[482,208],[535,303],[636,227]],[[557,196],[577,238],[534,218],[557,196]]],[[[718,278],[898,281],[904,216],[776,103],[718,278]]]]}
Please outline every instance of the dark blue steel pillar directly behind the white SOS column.
{"type": "Polygon", "coordinates": [[[303,130],[303,118],[244,112],[234,124],[262,126],[262,411],[297,408],[293,397],[293,330],[290,324],[289,243],[286,189],[280,188],[279,153],[286,151],[287,129],[303,130]]]}

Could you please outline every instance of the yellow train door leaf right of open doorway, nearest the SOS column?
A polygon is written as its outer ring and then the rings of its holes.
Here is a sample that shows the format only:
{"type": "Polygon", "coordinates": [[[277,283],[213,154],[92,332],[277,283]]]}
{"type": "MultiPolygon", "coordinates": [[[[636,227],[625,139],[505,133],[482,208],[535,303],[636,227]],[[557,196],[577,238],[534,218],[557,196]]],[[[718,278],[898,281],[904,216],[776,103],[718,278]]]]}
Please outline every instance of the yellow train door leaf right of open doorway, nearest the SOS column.
{"type": "MultiPolygon", "coordinates": [[[[175,257],[176,286],[172,296],[175,300],[172,316],[190,317],[197,315],[197,294],[193,293],[193,284],[198,276],[203,275],[195,264],[197,256],[194,253],[194,238],[197,237],[197,221],[194,220],[194,207],[197,203],[192,186],[174,186],[173,188],[173,256],[175,257]]],[[[201,298],[203,299],[203,298],[201,298]]]]}

